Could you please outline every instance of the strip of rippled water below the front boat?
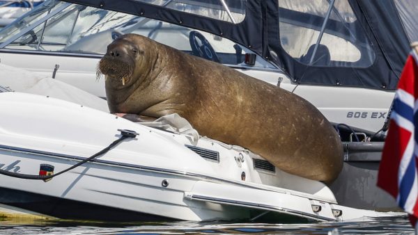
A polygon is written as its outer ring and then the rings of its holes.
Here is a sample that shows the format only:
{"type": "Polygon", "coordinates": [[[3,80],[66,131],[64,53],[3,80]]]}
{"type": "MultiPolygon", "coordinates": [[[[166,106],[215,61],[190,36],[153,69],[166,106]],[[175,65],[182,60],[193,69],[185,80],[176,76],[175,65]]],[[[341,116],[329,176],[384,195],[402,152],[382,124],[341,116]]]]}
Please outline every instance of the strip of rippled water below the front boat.
{"type": "Polygon", "coordinates": [[[414,234],[407,218],[292,224],[3,220],[0,234],[414,234]]]}

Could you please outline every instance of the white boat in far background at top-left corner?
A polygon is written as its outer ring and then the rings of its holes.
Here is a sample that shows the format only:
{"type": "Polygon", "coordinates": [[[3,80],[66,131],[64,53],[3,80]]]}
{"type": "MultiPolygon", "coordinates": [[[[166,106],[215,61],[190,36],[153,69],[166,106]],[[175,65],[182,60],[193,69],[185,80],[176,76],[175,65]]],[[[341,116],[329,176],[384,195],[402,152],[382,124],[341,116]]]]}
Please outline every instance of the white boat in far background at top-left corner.
{"type": "Polygon", "coordinates": [[[0,28],[10,24],[45,0],[0,1],[0,28]]]}

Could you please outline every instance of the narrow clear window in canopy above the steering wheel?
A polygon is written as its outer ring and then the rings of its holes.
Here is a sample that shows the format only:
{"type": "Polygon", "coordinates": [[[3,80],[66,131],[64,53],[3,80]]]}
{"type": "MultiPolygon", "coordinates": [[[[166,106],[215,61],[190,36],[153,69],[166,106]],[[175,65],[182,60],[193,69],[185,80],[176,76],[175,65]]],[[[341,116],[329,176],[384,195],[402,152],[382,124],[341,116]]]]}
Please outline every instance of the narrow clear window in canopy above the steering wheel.
{"type": "Polygon", "coordinates": [[[201,15],[219,19],[233,24],[242,22],[245,18],[247,0],[137,0],[164,8],[183,11],[193,15],[201,15]]]}

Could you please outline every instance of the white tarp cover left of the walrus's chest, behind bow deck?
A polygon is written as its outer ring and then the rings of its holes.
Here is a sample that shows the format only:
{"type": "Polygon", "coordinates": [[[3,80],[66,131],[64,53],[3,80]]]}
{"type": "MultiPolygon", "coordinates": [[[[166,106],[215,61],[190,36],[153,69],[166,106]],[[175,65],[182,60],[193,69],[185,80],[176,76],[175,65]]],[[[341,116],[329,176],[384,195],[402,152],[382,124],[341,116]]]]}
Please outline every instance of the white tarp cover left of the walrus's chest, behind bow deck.
{"type": "Polygon", "coordinates": [[[0,64],[0,86],[7,90],[45,95],[109,113],[104,99],[62,81],[0,64]]]}

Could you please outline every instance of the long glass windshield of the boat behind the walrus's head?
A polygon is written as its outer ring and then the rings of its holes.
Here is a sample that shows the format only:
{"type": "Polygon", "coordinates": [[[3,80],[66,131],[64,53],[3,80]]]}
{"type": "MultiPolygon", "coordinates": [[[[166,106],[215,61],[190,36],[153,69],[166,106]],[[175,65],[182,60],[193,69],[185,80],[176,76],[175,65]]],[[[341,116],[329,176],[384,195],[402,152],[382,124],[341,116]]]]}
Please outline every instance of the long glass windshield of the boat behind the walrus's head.
{"type": "MultiPolygon", "coordinates": [[[[240,17],[233,15],[233,19],[240,17]]],[[[101,55],[121,33],[137,33],[192,53],[191,32],[196,30],[157,19],[48,0],[0,31],[0,48],[101,55]]],[[[198,32],[212,46],[220,63],[243,63],[245,51],[240,46],[226,38],[198,32]]],[[[203,42],[201,38],[198,40],[203,42]]]]}

